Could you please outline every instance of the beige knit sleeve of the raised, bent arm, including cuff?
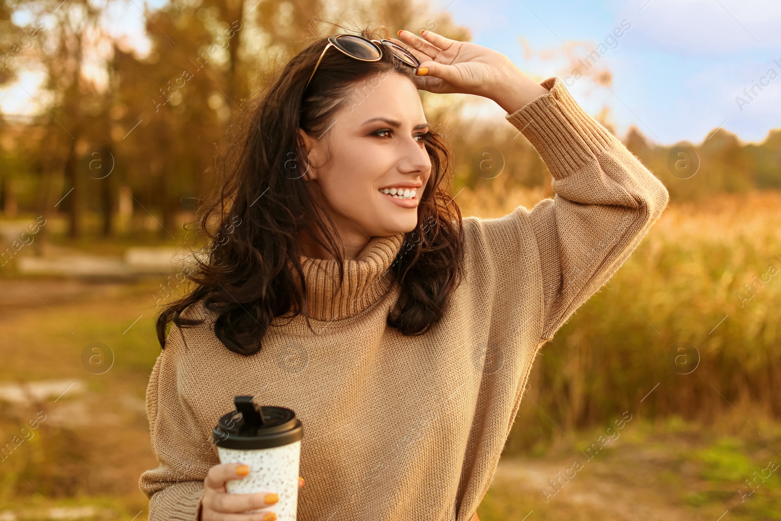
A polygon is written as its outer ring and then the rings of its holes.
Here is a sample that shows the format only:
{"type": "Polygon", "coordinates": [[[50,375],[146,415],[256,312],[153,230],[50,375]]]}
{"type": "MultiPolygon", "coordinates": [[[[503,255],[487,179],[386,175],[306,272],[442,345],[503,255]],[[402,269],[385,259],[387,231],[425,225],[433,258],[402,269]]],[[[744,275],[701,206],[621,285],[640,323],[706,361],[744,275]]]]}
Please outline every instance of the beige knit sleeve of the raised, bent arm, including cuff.
{"type": "Polygon", "coordinates": [[[640,159],[580,108],[562,80],[551,77],[540,85],[547,94],[505,118],[537,149],[555,196],[494,220],[506,227],[509,218],[523,237],[536,241],[540,341],[548,341],[637,248],[669,194],[640,159]]]}

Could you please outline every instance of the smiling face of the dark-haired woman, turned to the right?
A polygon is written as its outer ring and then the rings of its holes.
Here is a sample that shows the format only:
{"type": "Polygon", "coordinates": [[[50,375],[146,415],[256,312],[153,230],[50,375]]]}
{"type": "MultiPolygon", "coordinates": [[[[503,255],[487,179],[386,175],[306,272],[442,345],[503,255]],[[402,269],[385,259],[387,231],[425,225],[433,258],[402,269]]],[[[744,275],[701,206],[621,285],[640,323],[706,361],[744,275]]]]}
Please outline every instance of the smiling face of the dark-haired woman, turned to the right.
{"type": "Polygon", "coordinates": [[[423,144],[429,125],[412,81],[391,72],[357,86],[361,94],[351,95],[323,136],[301,131],[310,182],[322,191],[348,248],[369,237],[414,230],[431,173],[423,144]],[[331,161],[325,165],[328,148],[331,161]]]}

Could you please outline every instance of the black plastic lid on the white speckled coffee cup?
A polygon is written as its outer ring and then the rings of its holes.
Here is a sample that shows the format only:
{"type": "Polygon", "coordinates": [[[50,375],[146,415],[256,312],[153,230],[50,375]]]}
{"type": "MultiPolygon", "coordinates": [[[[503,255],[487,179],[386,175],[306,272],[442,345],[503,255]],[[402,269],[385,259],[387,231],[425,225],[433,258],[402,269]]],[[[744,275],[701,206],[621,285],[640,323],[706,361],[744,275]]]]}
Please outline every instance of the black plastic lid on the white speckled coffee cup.
{"type": "Polygon", "coordinates": [[[273,448],[304,437],[295,412],[273,405],[255,406],[251,396],[234,398],[236,410],[223,415],[212,429],[214,444],[224,448],[273,448]]]}

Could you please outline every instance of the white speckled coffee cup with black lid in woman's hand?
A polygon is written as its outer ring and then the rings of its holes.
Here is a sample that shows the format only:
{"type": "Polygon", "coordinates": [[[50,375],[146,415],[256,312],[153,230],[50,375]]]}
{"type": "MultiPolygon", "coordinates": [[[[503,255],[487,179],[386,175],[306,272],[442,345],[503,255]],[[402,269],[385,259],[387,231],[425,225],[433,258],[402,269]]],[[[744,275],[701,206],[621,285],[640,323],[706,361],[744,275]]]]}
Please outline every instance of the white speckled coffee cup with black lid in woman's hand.
{"type": "Polygon", "coordinates": [[[276,493],[276,519],[295,521],[303,425],[291,409],[260,407],[251,399],[237,396],[236,411],[220,418],[212,430],[220,463],[249,466],[249,474],[226,482],[226,489],[229,494],[276,493]]]}

